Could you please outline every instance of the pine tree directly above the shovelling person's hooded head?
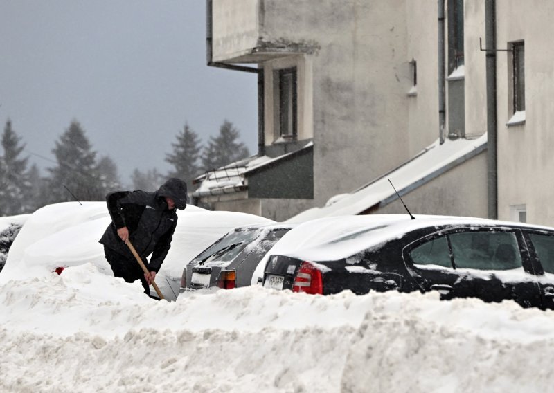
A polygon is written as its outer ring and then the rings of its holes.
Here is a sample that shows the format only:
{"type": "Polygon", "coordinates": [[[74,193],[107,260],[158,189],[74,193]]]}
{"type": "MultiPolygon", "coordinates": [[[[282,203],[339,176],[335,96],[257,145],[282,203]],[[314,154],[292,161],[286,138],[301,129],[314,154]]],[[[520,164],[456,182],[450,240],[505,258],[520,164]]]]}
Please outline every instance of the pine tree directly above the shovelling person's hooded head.
{"type": "Polygon", "coordinates": [[[186,181],[190,187],[193,179],[199,174],[198,160],[200,147],[198,134],[188,124],[183,131],[177,134],[177,143],[171,144],[172,154],[166,154],[166,161],[173,165],[174,170],[168,173],[168,177],[178,177],[186,181]]]}

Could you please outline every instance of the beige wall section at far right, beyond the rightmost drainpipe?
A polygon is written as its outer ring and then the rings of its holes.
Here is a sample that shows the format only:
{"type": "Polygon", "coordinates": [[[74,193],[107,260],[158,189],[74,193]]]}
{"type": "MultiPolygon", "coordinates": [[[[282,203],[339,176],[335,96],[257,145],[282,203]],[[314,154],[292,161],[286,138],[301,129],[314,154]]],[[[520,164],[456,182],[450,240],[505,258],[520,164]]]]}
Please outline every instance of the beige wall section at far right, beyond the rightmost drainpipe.
{"type": "Polygon", "coordinates": [[[497,1],[497,46],[525,40],[526,122],[507,127],[509,53],[497,55],[499,217],[526,204],[531,223],[554,225],[554,2],[497,1]]]}

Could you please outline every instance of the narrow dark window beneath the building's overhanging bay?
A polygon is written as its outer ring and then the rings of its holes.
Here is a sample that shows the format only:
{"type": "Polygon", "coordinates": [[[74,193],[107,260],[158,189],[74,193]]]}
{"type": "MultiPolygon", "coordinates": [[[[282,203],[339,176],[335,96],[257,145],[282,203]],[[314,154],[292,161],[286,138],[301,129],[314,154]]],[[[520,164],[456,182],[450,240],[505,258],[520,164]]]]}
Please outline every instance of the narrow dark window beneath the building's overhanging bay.
{"type": "Polygon", "coordinates": [[[276,138],[294,139],[297,134],[296,125],[296,67],[276,70],[275,86],[275,119],[276,138]]]}

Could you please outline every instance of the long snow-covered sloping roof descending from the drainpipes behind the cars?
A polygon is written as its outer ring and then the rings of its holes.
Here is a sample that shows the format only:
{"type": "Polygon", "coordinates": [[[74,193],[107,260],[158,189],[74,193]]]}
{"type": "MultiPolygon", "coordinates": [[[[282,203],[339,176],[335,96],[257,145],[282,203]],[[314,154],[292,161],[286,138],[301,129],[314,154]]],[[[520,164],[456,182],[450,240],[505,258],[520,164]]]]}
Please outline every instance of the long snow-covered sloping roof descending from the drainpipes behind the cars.
{"type": "Polygon", "coordinates": [[[487,146],[487,134],[476,139],[439,140],[429,145],[418,156],[395,170],[348,194],[329,199],[323,208],[312,208],[288,219],[288,222],[303,222],[328,216],[360,214],[379,203],[385,205],[397,199],[391,183],[400,195],[435,179],[452,167],[483,152],[487,146]],[[389,180],[391,183],[389,183],[389,180]]]}

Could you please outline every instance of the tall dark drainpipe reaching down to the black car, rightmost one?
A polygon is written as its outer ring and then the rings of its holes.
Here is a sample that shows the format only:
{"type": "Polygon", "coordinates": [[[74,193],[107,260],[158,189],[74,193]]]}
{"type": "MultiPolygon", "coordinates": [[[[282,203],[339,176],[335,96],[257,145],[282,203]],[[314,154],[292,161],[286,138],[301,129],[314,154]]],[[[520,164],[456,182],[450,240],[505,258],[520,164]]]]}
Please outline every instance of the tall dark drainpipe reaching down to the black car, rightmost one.
{"type": "Polygon", "coordinates": [[[487,204],[488,217],[498,218],[497,179],[497,47],[496,1],[485,0],[485,47],[487,68],[487,204]]]}

